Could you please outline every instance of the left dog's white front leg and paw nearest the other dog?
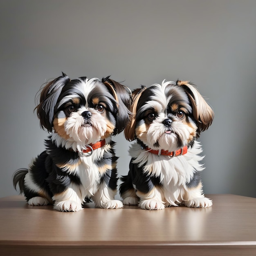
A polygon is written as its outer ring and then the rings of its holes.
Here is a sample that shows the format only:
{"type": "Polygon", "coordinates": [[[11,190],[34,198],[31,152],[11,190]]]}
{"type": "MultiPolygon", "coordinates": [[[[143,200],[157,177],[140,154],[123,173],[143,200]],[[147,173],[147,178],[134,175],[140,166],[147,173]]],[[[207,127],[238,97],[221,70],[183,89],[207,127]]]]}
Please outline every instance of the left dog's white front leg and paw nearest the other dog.
{"type": "Polygon", "coordinates": [[[105,181],[102,181],[92,199],[96,207],[105,209],[122,208],[123,203],[119,200],[115,200],[115,194],[116,191],[112,190],[105,181]]]}

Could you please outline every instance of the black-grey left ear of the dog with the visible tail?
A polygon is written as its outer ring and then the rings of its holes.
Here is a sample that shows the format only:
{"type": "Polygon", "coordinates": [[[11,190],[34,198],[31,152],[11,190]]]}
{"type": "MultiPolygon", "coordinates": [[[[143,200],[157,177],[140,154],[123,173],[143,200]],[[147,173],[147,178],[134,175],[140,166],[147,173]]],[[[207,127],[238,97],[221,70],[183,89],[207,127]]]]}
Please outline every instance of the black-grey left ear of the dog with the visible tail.
{"type": "Polygon", "coordinates": [[[40,92],[40,101],[35,110],[40,119],[40,126],[48,132],[52,132],[54,108],[61,94],[63,87],[70,81],[70,78],[62,73],[62,76],[48,82],[40,92]]]}

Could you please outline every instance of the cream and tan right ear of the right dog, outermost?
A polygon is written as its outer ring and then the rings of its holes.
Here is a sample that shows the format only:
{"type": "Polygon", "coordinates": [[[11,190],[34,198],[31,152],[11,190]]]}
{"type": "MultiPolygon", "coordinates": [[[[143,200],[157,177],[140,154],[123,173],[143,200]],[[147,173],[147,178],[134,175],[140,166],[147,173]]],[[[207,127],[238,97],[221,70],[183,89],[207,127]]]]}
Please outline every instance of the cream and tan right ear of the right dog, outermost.
{"type": "Polygon", "coordinates": [[[189,81],[177,81],[177,85],[181,86],[189,96],[193,108],[193,116],[198,123],[197,137],[199,137],[200,132],[207,130],[211,125],[214,112],[199,91],[189,81]]]}

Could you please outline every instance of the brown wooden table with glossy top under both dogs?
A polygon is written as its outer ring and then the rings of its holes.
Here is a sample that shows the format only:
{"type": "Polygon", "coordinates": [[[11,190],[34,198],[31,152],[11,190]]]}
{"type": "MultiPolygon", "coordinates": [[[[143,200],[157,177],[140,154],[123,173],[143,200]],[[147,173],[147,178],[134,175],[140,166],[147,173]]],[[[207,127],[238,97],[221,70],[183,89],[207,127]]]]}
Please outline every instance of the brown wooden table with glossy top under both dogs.
{"type": "Polygon", "coordinates": [[[205,209],[58,212],[0,198],[0,255],[256,255],[256,198],[208,195],[205,209]]]}

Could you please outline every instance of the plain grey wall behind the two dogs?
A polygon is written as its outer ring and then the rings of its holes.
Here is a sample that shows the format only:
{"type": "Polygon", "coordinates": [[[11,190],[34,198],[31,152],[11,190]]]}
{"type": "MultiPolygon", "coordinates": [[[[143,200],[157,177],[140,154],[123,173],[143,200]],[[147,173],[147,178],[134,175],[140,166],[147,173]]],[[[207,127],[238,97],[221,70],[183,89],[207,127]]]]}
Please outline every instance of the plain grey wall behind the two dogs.
{"type": "MultiPolygon", "coordinates": [[[[35,95],[61,71],[131,89],[192,81],[215,112],[200,137],[204,192],[256,197],[255,13],[255,0],[1,0],[0,197],[44,150],[35,95]]],[[[125,175],[129,142],[114,140],[125,175]]]]}

